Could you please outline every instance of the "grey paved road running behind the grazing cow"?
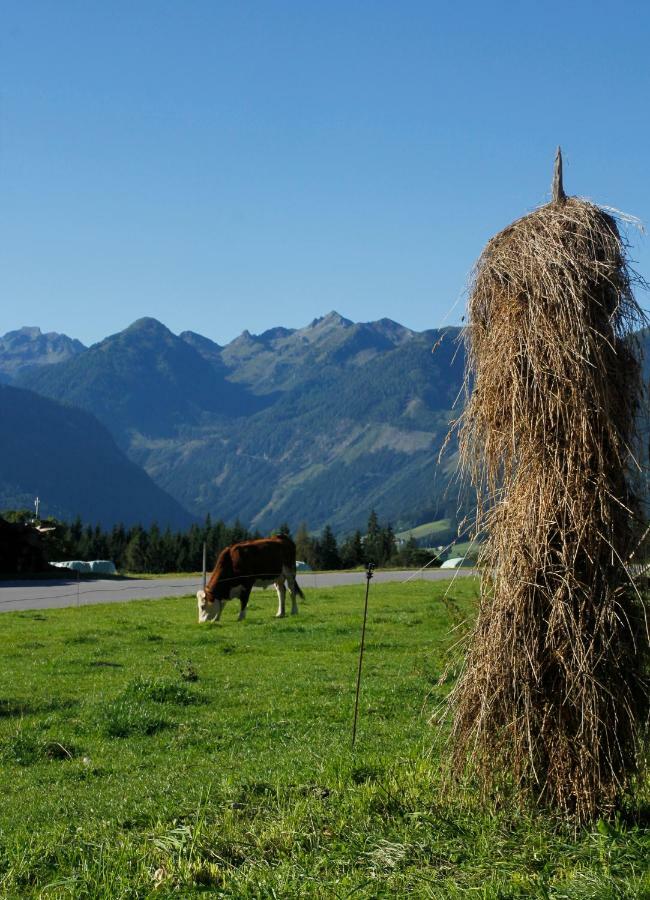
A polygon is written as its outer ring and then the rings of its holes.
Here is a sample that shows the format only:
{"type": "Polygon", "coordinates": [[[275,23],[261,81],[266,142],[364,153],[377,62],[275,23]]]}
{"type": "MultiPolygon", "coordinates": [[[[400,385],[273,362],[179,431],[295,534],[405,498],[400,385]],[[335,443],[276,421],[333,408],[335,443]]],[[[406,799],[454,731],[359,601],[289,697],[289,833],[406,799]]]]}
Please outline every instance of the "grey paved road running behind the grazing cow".
{"type": "MultiPolygon", "coordinates": [[[[415,578],[441,581],[475,575],[474,569],[425,569],[402,572],[375,572],[375,581],[407,581],[415,578]]],[[[299,572],[298,582],[308,591],[315,587],[340,584],[364,584],[364,572],[299,572]]],[[[26,609],[55,609],[62,606],[89,606],[94,603],[121,603],[128,600],[157,600],[160,597],[194,595],[201,587],[200,577],[96,579],[76,578],[52,581],[0,582],[0,612],[26,609]]],[[[275,596],[275,594],[274,594],[275,596]]]]}

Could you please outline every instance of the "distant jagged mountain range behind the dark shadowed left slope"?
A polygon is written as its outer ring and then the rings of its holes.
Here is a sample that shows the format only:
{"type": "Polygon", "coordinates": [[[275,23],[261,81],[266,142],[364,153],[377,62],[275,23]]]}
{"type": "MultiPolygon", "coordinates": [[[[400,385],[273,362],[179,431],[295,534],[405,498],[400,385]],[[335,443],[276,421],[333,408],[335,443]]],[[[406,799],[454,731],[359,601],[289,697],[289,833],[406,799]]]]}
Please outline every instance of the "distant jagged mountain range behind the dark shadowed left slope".
{"type": "Polygon", "coordinates": [[[192,516],[343,533],[371,509],[400,528],[457,511],[453,457],[438,454],[462,382],[458,329],[331,312],[220,346],[146,318],[89,348],[60,336],[66,358],[40,364],[38,329],[0,340],[27,333],[24,364],[0,343],[5,378],[96,417],[192,516]]]}

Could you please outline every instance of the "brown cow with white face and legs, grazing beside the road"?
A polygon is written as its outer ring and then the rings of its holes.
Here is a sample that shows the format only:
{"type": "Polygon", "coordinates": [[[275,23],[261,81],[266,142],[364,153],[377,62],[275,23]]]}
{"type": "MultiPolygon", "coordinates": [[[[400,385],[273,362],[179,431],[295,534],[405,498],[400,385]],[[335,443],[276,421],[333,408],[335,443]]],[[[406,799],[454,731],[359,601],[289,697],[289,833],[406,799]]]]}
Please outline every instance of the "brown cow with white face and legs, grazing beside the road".
{"type": "Polygon", "coordinates": [[[296,595],[304,594],[296,581],[296,545],[284,535],[241,541],[222,550],[204,591],[197,591],[199,622],[219,621],[227,600],[239,598],[239,619],[246,615],[248,598],[254,587],[275,585],[278,592],[276,616],[284,616],[285,581],[291,593],[291,615],[298,612],[296,595]]]}

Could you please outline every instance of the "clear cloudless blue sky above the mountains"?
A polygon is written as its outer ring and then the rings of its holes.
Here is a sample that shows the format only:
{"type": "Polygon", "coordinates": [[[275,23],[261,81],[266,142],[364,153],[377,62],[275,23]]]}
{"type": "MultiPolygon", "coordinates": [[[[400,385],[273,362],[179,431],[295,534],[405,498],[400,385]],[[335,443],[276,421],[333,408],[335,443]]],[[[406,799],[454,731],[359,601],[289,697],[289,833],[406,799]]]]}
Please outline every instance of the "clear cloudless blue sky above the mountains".
{"type": "Polygon", "coordinates": [[[0,334],[458,323],[558,143],[650,223],[648,46],[625,0],[3,0],[0,334]]]}

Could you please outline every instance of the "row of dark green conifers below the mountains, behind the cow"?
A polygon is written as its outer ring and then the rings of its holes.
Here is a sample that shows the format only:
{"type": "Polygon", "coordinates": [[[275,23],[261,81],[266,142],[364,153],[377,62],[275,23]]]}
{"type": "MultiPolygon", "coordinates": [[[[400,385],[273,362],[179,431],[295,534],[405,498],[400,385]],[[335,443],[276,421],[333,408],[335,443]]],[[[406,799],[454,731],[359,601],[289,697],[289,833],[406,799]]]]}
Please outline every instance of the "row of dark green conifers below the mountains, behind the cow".
{"type": "MultiPolygon", "coordinates": [[[[12,510],[3,516],[9,521],[29,521],[32,514],[29,510],[12,510]]],[[[110,559],[120,572],[151,574],[201,571],[204,543],[210,570],[224,547],[264,536],[238,521],[233,525],[221,520],[213,522],[210,515],[202,525],[192,525],[186,531],[161,529],[155,523],[149,528],[117,524],[104,529],[100,525],[84,525],[80,518],[72,523],[44,519],[41,524],[55,526],[54,531],[44,535],[48,559],[52,562],[110,559]]],[[[357,530],[340,544],[329,525],[314,536],[306,524],[301,524],[292,535],[285,522],[274,533],[292,537],[296,558],[315,570],[353,569],[369,562],[377,566],[421,566],[431,560],[430,552],[418,547],[414,538],[398,543],[392,526],[382,525],[374,510],[368,518],[366,533],[357,530]]]]}

